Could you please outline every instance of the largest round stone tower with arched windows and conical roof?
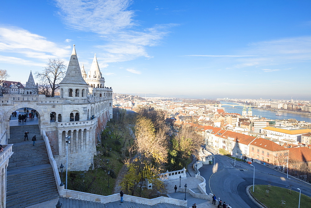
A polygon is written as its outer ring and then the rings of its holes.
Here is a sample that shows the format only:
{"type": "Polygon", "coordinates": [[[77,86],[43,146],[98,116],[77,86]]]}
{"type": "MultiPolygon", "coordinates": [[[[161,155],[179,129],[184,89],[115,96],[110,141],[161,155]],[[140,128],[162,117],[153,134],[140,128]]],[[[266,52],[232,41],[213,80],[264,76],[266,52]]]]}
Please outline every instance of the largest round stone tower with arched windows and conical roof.
{"type": "Polygon", "coordinates": [[[73,45],[66,76],[59,83],[60,97],[81,98],[87,96],[87,83],[84,81],[79,61],[73,45]]]}

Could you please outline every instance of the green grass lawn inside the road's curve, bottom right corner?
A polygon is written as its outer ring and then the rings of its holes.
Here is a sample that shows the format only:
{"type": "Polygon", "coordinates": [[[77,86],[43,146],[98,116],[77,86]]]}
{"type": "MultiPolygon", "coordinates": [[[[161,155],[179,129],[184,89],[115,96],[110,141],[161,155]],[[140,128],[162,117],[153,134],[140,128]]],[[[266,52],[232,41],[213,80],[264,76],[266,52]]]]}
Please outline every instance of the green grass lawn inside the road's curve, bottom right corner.
{"type": "MultiPolygon", "coordinates": [[[[289,189],[272,186],[271,191],[269,191],[269,197],[267,197],[266,190],[268,190],[268,185],[255,185],[255,192],[253,192],[253,186],[249,188],[253,196],[260,201],[262,204],[268,208],[272,207],[282,207],[281,203],[284,200],[285,205],[283,207],[298,207],[299,203],[299,190],[291,191],[289,189]]],[[[301,194],[300,207],[311,207],[310,197],[301,194]]]]}

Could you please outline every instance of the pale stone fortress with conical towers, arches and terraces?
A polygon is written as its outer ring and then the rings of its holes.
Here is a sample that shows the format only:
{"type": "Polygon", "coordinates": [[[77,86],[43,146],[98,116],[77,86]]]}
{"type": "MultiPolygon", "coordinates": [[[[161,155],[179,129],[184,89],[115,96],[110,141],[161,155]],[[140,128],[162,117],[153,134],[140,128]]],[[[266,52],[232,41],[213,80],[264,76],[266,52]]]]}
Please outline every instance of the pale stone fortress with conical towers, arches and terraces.
{"type": "MultiPolygon", "coordinates": [[[[78,62],[75,46],[73,47],[65,77],[59,83],[59,97],[45,97],[32,93],[36,88],[32,74],[23,93],[3,94],[0,97],[0,132],[1,144],[7,144],[10,138],[10,116],[13,111],[29,107],[39,114],[39,129],[46,134],[57,164],[65,162],[66,135],[71,136],[68,153],[68,170],[88,170],[96,154],[96,145],[100,142],[101,132],[107,121],[112,118],[112,88],[104,86],[96,56],[89,76],[86,77],[78,62]],[[84,78],[82,76],[84,75],[84,78]],[[96,76],[96,77],[95,77],[96,76]],[[28,93],[27,93],[28,92],[28,93]],[[50,119],[55,116],[55,120],[50,119]]],[[[21,89],[20,89],[21,90],[21,89]]]]}

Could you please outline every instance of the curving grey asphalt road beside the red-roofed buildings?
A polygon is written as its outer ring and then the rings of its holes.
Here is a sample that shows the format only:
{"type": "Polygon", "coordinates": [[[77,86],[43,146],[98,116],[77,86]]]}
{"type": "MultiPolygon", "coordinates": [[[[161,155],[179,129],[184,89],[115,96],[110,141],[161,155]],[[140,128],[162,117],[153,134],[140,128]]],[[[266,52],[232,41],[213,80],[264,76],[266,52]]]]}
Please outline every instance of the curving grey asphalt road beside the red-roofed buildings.
{"type": "MultiPolygon", "coordinates": [[[[213,154],[214,150],[211,150],[211,153],[213,154]]],[[[291,185],[292,190],[300,188],[301,193],[311,196],[311,185],[292,177],[287,179],[286,174],[259,163],[253,163],[253,165],[255,167],[255,184],[268,185],[270,183],[272,186],[284,188],[291,185]]],[[[246,194],[246,187],[253,185],[253,170],[253,166],[238,161],[234,167],[234,161],[231,158],[220,154],[216,154],[215,168],[214,165],[203,165],[199,169],[207,183],[206,192],[215,194],[217,198],[220,197],[223,202],[225,201],[234,208],[258,207],[246,194]]]]}

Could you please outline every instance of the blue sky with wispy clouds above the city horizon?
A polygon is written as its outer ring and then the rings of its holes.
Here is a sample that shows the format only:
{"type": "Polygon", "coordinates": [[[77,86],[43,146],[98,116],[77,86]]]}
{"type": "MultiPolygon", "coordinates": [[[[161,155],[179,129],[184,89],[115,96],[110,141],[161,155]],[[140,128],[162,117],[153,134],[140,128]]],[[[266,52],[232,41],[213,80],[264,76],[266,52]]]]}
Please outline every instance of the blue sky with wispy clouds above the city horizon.
{"type": "Polygon", "coordinates": [[[76,45],[116,93],[311,99],[311,1],[0,0],[0,69],[26,83],[76,45]]]}

